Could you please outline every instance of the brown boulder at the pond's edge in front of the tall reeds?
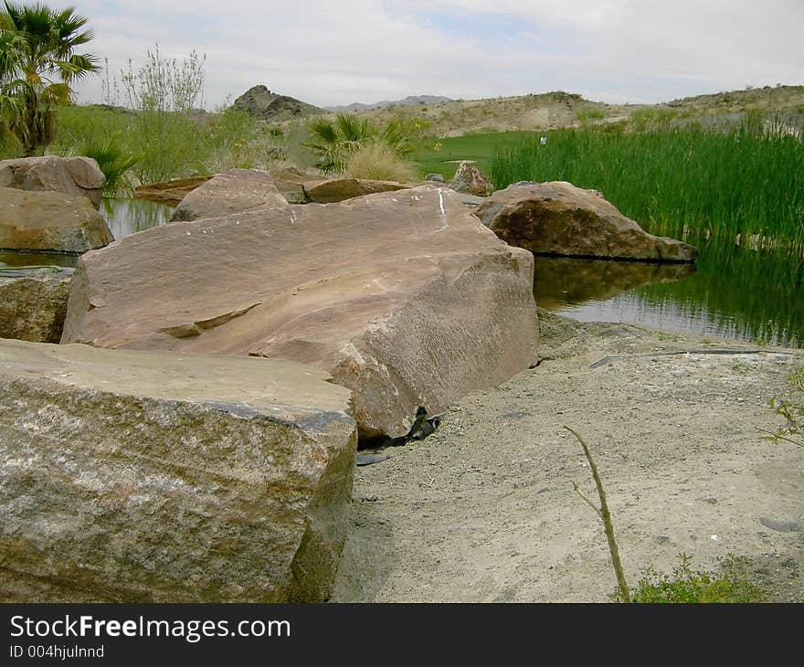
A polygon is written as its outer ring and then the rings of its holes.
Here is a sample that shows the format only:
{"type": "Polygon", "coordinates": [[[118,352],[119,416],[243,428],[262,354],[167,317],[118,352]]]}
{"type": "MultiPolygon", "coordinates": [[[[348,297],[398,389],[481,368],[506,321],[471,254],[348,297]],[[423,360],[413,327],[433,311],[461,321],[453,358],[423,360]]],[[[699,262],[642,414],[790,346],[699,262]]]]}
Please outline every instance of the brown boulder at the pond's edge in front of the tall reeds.
{"type": "Polygon", "coordinates": [[[597,191],[565,181],[510,185],[475,213],[506,243],[536,254],[680,262],[697,255],[682,241],[648,234],[597,191]]]}

